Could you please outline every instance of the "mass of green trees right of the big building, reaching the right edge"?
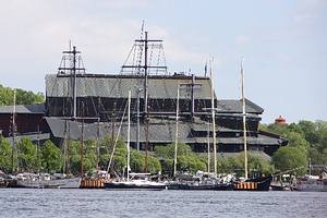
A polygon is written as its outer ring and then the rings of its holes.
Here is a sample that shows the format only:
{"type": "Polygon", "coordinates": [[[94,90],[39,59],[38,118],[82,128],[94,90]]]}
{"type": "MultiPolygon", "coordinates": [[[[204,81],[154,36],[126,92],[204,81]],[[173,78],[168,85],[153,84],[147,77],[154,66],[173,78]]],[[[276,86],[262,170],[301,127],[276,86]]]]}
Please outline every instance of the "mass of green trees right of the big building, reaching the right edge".
{"type": "MultiPolygon", "coordinates": [[[[288,146],[279,148],[272,156],[272,165],[277,170],[296,170],[299,174],[307,173],[308,162],[327,166],[327,122],[305,121],[291,124],[261,125],[264,131],[281,135],[289,141],[288,146]]],[[[314,173],[320,169],[314,168],[314,173]]]]}

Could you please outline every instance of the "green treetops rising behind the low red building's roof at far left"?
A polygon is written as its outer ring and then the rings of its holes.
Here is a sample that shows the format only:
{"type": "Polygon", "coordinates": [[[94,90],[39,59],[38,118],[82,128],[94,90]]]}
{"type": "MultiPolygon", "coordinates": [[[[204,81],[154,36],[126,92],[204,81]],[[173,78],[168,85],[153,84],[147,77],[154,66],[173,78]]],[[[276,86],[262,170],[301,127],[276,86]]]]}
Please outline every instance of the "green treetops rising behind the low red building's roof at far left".
{"type": "MultiPolygon", "coordinates": [[[[23,90],[16,88],[16,105],[34,105],[43,104],[45,96],[43,93],[33,93],[31,90],[23,90]]],[[[14,102],[14,89],[4,87],[0,84],[0,106],[13,105],[14,102]]]]}

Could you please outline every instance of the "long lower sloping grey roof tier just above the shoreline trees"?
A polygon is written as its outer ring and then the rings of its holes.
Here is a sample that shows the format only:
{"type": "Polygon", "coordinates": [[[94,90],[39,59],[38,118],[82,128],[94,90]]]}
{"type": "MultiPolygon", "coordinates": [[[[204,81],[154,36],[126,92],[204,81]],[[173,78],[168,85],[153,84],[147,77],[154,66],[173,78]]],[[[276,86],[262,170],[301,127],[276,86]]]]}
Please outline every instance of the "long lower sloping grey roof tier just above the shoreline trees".
{"type": "MultiPolygon", "coordinates": [[[[71,140],[81,140],[81,129],[82,123],[75,122],[75,121],[64,121],[57,118],[46,118],[46,121],[49,124],[49,128],[55,137],[61,137],[61,138],[71,138],[71,140]],[[65,131],[65,122],[66,122],[66,131],[65,131]]],[[[194,144],[206,144],[207,138],[206,137],[198,137],[196,135],[193,135],[192,129],[199,130],[201,128],[206,128],[204,124],[191,124],[191,123],[179,123],[179,141],[183,143],[194,144]]],[[[84,129],[84,138],[96,138],[97,137],[97,130],[99,128],[99,138],[104,138],[105,135],[111,134],[111,123],[101,123],[99,126],[97,123],[94,124],[85,124],[84,129]]],[[[116,123],[114,128],[114,135],[118,135],[118,129],[119,123],[116,123]]],[[[219,128],[218,131],[227,131],[226,128],[219,128]]],[[[174,142],[174,131],[175,131],[175,124],[174,122],[157,122],[157,123],[150,123],[150,126],[148,129],[149,131],[149,142],[150,143],[172,143],[174,142]]],[[[128,138],[128,125],[126,123],[123,123],[119,137],[126,141],[128,138]]],[[[131,124],[131,142],[136,142],[137,138],[137,125],[136,123],[131,124]]],[[[141,124],[140,129],[140,142],[145,143],[145,126],[141,124]]],[[[280,137],[272,137],[267,135],[258,134],[258,137],[250,136],[247,137],[249,144],[255,144],[255,145],[280,145],[283,140],[280,137]]],[[[219,137],[218,143],[222,144],[242,144],[243,137],[219,137]]]]}

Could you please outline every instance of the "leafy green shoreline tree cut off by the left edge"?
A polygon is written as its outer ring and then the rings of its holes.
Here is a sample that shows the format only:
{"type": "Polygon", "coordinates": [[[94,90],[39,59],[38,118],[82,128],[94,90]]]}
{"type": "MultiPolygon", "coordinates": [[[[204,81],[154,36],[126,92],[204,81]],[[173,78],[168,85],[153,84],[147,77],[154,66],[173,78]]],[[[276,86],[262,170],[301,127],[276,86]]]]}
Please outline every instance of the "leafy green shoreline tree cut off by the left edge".
{"type": "Polygon", "coordinates": [[[0,136],[0,170],[5,173],[12,171],[12,147],[2,136],[0,136]]]}

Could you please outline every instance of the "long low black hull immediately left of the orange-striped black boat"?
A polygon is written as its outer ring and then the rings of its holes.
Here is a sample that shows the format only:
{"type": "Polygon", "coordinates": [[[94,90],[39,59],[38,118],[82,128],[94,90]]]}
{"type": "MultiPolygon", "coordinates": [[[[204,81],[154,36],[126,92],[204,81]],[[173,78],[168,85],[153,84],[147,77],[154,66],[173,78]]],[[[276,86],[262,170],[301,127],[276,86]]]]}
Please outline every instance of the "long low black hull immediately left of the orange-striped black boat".
{"type": "Polygon", "coordinates": [[[185,190],[185,191],[231,191],[232,184],[187,184],[187,183],[174,183],[168,185],[168,190],[185,190]]]}

